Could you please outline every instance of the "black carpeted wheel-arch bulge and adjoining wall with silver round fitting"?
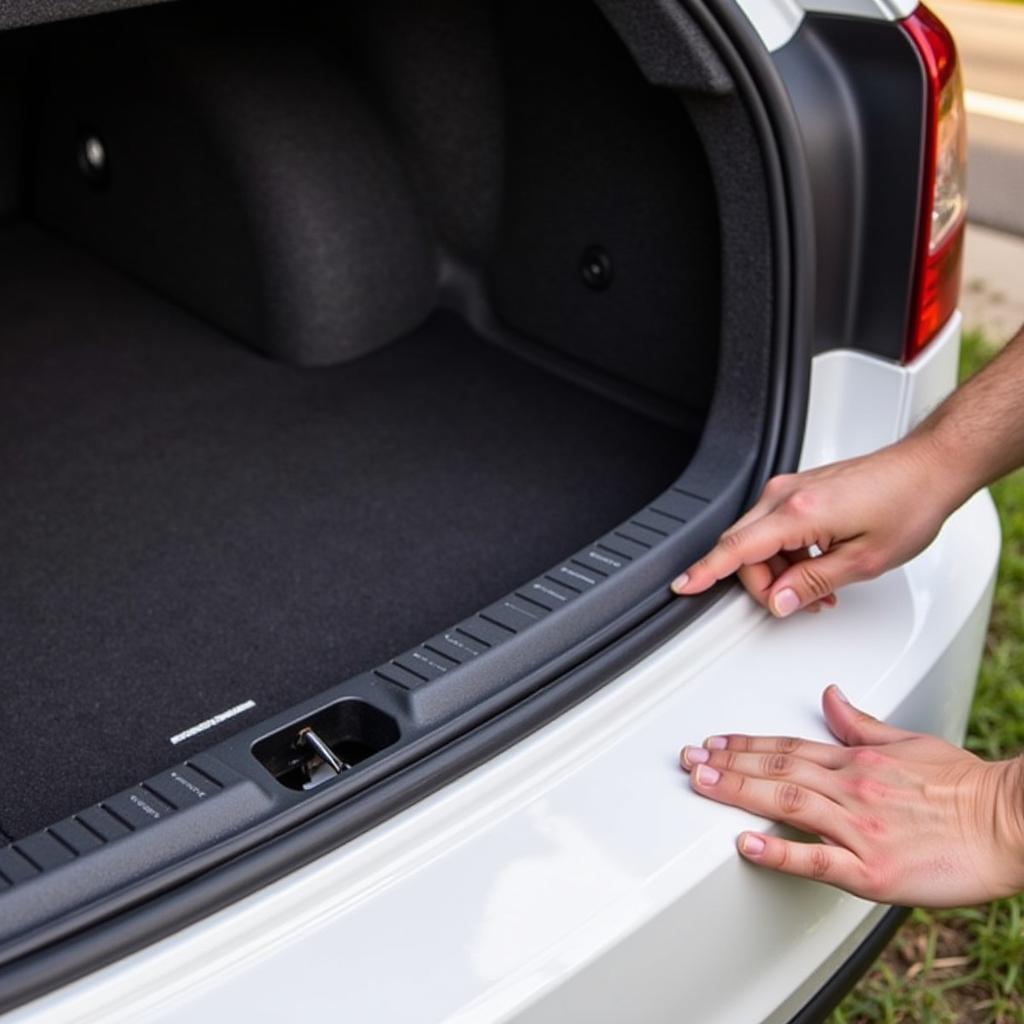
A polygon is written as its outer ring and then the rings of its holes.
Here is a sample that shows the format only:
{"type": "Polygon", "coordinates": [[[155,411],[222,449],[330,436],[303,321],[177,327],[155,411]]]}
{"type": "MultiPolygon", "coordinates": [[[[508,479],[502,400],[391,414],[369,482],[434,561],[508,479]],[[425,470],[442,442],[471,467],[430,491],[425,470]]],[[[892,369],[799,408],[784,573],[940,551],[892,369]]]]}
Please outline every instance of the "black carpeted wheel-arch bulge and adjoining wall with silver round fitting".
{"type": "Polygon", "coordinates": [[[434,254],[380,118],[311,28],[206,20],[167,7],[51,33],[34,213],[288,362],[412,330],[434,254]],[[89,132],[99,180],[68,159],[89,132]]]}

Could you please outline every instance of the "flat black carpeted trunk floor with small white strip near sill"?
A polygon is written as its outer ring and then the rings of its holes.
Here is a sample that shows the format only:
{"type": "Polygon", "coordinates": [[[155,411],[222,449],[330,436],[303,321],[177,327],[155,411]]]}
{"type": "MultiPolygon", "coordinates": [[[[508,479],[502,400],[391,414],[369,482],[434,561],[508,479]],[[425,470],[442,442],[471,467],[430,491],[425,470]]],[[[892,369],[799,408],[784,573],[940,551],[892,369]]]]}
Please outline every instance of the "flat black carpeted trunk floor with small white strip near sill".
{"type": "Polygon", "coordinates": [[[0,827],[27,835],[471,613],[651,499],[693,441],[453,314],[296,369],[5,228],[0,827]]]}

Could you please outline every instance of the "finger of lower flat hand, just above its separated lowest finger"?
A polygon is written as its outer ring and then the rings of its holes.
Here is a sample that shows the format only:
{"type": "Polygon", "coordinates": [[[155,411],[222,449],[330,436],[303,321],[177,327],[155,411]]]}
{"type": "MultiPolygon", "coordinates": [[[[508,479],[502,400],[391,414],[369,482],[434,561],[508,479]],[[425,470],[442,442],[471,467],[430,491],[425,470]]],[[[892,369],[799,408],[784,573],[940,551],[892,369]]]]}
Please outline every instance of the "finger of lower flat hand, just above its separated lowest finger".
{"type": "Polygon", "coordinates": [[[710,800],[776,821],[784,821],[802,831],[828,836],[843,845],[856,841],[850,812],[834,800],[796,782],[755,778],[738,771],[721,771],[711,765],[696,765],[690,785],[710,800]]]}

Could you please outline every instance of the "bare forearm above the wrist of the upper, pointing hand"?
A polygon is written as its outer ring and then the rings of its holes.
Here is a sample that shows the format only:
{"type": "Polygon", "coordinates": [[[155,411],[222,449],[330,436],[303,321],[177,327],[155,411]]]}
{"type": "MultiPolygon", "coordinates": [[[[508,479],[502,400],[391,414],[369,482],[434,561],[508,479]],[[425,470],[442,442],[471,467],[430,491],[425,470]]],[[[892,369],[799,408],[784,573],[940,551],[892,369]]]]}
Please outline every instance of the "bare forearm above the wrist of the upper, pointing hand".
{"type": "Polygon", "coordinates": [[[949,512],[1024,465],[1024,329],[904,443],[930,462],[949,512]]]}

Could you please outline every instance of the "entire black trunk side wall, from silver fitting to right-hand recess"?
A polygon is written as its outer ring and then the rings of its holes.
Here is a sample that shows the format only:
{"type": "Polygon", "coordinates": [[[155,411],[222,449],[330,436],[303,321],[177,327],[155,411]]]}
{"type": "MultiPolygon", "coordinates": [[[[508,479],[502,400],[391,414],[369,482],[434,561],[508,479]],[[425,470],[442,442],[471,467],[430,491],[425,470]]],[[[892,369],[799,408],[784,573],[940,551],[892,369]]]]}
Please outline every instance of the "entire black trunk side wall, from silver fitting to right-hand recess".
{"type": "Polygon", "coordinates": [[[509,328],[707,410],[709,169],[588,0],[265,6],[243,32],[189,14],[46,34],[43,223],[300,366],[416,327],[440,257],[468,261],[509,328]],[[93,131],[99,181],[69,159],[93,131]],[[603,291],[582,281],[595,246],[603,291]]]}

